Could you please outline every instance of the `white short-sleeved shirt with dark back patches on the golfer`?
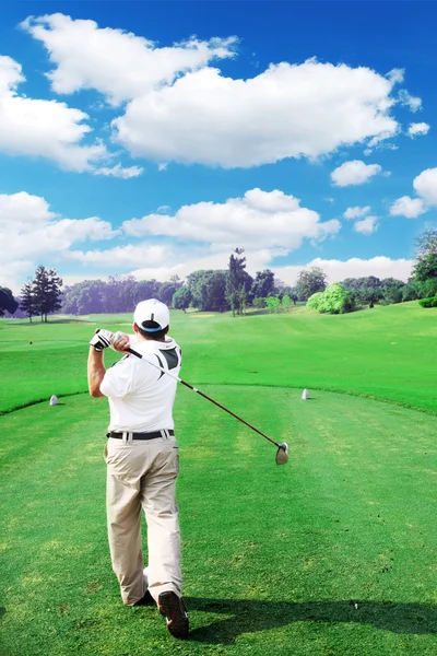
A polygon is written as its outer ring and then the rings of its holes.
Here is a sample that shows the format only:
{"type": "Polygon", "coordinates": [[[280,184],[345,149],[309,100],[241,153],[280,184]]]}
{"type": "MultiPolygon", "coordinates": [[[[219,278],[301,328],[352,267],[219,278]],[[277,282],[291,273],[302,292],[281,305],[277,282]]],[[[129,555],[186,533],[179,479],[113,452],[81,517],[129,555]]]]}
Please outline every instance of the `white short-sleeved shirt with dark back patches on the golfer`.
{"type": "Polygon", "coordinates": [[[174,429],[177,380],[150,363],[178,376],[181,365],[178,344],[166,337],[164,342],[135,339],[132,348],[143,358],[126,355],[106,371],[101,384],[101,391],[109,401],[109,431],[149,433],[174,429]]]}

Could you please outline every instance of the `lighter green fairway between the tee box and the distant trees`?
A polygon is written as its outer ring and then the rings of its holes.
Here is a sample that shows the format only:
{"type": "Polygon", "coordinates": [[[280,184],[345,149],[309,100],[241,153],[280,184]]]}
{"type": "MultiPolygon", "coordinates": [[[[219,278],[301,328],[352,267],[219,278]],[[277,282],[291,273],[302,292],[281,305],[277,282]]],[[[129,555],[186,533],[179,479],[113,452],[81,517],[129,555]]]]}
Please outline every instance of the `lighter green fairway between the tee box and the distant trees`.
{"type": "MultiPolygon", "coordinates": [[[[87,341],[97,326],[130,330],[130,315],[42,325],[0,321],[0,412],[86,390],[87,341]],[[28,342],[33,343],[29,344],[28,342]]],[[[194,385],[307,387],[369,396],[437,413],[437,308],[417,302],[343,316],[172,313],[194,385]]],[[[107,362],[116,355],[109,353],[107,362]]]]}

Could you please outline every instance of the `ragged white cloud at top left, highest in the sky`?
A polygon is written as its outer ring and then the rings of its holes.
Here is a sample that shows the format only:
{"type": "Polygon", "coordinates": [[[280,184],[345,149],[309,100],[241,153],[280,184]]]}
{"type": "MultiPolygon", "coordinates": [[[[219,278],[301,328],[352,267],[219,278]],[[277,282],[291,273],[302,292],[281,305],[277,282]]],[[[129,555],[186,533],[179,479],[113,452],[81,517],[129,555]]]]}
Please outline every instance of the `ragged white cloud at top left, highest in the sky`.
{"type": "Polygon", "coordinates": [[[54,91],[70,94],[96,89],[113,105],[172,84],[180,73],[210,61],[233,57],[237,45],[235,37],[208,42],[191,37],[160,48],[132,33],[61,13],[29,16],[22,27],[45,45],[56,65],[48,74],[54,91]]]}

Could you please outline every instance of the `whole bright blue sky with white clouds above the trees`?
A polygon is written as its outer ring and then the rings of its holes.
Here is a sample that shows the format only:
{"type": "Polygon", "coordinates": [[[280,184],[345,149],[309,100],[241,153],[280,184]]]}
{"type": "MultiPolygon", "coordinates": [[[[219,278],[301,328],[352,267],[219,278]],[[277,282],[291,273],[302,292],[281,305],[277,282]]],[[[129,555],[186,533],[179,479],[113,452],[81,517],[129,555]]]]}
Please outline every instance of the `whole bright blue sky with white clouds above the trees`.
{"type": "Polygon", "coordinates": [[[406,280],[437,208],[434,2],[0,9],[0,284],[406,280]]]}

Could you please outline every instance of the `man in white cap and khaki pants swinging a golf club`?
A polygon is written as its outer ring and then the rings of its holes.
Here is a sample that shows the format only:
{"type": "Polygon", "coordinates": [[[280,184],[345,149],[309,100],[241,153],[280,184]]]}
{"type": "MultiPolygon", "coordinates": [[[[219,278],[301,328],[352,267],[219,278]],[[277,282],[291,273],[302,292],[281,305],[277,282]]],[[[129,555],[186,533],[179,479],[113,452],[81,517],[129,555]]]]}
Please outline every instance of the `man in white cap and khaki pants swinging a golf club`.
{"type": "MultiPolygon", "coordinates": [[[[110,410],[107,464],[107,519],[113,569],[127,606],[152,599],[175,637],[188,635],[181,597],[180,532],[175,484],[179,454],[173,405],[177,382],[150,363],[178,375],[181,354],[169,337],[169,312],[151,298],[137,305],[131,340],[102,330],[90,344],[91,396],[107,397],[110,410]],[[109,370],[103,351],[122,352],[130,341],[142,359],[126,355],[109,370]],[[133,345],[133,343],[132,343],[133,345]],[[149,567],[143,570],[141,508],[147,524],[149,567]]],[[[152,601],[152,602],[153,602],[152,601]]]]}

